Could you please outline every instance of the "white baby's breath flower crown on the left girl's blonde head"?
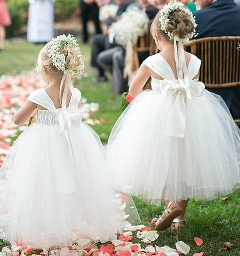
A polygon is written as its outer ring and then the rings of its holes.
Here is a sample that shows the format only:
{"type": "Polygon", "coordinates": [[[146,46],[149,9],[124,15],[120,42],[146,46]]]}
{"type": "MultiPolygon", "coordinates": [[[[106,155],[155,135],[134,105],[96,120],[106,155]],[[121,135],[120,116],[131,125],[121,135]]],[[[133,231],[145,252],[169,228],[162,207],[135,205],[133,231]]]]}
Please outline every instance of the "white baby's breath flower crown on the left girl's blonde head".
{"type": "Polygon", "coordinates": [[[52,58],[53,66],[58,70],[62,70],[64,74],[71,74],[73,76],[80,76],[84,72],[84,58],[80,62],[78,70],[70,70],[66,63],[66,56],[61,52],[61,48],[64,45],[70,45],[72,47],[78,47],[77,39],[73,35],[68,34],[66,36],[58,35],[49,42],[48,57],[52,58]]]}

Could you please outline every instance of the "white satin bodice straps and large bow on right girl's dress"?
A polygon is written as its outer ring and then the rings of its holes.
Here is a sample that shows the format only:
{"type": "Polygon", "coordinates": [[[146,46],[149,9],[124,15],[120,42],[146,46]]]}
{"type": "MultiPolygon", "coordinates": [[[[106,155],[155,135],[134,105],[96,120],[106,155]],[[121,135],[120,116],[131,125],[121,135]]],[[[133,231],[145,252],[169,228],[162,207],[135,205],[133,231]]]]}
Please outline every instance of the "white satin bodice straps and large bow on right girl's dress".
{"type": "Polygon", "coordinates": [[[189,103],[195,97],[201,97],[205,88],[202,82],[194,79],[200,69],[201,60],[190,53],[188,67],[185,66],[184,77],[181,78],[179,78],[179,74],[183,70],[178,67],[176,61],[178,79],[176,79],[169,63],[160,53],[149,56],[143,63],[154,73],[163,77],[162,80],[152,77],[152,90],[162,94],[164,98],[169,98],[172,102],[168,110],[165,134],[183,138],[187,122],[189,122],[187,117],[189,103]]]}

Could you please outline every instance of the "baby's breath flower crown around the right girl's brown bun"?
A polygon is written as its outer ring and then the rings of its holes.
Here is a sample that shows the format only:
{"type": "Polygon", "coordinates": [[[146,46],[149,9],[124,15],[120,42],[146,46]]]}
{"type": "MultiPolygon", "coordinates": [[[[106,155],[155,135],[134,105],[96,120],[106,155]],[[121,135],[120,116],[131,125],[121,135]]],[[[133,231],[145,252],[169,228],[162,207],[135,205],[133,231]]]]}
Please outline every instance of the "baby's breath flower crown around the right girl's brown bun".
{"type": "Polygon", "coordinates": [[[186,13],[189,17],[189,19],[192,21],[193,23],[193,32],[192,33],[188,33],[186,34],[186,38],[192,38],[194,36],[197,35],[196,33],[196,27],[197,27],[197,23],[195,20],[195,16],[193,16],[192,12],[186,8],[184,8],[183,3],[179,3],[177,1],[171,1],[170,3],[166,4],[163,6],[163,9],[161,9],[159,11],[159,16],[160,16],[160,24],[161,24],[161,29],[168,34],[170,40],[174,39],[174,37],[176,37],[177,35],[177,31],[174,30],[172,33],[167,32],[166,31],[166,25],[168,24],[168,22],[170,21],[169,19],[169,14],[172,13],[172,11],[184,11],[184,13],[186,13]]]}

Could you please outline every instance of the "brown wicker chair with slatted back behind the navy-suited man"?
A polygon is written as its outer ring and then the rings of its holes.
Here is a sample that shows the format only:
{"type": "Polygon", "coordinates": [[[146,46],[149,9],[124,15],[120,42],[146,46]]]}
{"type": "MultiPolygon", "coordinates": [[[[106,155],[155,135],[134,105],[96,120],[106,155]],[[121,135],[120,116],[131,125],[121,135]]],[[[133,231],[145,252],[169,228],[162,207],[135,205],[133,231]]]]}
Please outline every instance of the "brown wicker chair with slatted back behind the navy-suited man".
{"type": "MultiPolygon", "coordinates": [[[[206,37],[191,40],[184,45],[202,60],[200,81],[207,88],[240,86],[240,36],[206,37]]],[[[240,119],[235,119],[240,125],[240,119]]]]}

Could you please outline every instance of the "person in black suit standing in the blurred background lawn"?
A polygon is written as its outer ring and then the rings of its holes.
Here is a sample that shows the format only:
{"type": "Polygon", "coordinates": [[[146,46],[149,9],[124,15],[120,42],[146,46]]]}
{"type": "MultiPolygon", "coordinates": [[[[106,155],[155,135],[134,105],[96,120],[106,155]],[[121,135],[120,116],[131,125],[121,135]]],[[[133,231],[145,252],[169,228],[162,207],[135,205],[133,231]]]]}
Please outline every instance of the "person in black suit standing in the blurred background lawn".
{"type": "Polygon", "coordinates": [[[95,25],[96,34],[102,33],[99,22],[99,7],[94,0],[80,0],[81,5],[81,17],[82,17],[82,41],[87,43],[88,41],[88,32],[87,32],[87,22],[91,16],[93,23],[95,25]]]}

